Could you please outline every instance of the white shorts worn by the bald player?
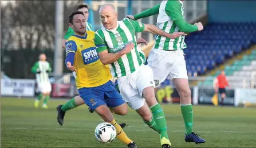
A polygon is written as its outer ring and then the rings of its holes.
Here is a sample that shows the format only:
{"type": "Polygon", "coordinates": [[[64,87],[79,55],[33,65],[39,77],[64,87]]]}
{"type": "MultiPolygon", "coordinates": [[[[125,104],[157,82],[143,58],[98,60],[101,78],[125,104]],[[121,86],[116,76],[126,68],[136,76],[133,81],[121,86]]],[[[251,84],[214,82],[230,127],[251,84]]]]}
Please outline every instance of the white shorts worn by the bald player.
{"type": "Polygon", "coordinates": [[[117,78],[119,90],[124,100],[132,109],[141,108],[145,99],[142,98],[144,88],[155,87],[153,71],[148,65],[141,65],[131,75],[117,78]]]}

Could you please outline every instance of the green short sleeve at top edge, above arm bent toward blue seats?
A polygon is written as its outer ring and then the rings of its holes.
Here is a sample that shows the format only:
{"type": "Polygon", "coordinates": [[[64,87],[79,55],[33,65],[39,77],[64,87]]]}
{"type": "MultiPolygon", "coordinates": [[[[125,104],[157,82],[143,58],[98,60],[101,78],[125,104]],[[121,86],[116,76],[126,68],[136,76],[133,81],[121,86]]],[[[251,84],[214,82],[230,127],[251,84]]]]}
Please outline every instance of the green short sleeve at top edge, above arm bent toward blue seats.
{"type": "Polygon", "coordinates": [[[182,15],[182,5],[179,1],[168,1],[165,8],[166,14],[172,20],[184,19],[182,15]]]}

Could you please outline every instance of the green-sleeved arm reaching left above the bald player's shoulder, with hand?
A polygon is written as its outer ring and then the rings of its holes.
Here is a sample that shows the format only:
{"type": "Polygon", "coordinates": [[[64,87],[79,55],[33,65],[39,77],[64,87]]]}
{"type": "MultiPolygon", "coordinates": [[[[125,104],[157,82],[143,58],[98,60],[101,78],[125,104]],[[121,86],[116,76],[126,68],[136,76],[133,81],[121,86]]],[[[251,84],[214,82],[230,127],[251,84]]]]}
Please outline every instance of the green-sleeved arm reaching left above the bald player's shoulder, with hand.
{"type": "Polygon", "coordinates": [[[152,7],[151,9],[147,9],[147,10],[143,11],[142,13],[136,14],[134,16],[126,15],[126,17],[129,19],[133,19],[133,20],[150,17],[151,15],[159,14],[159,7],[160,7],[160,4],[152,7]]]}

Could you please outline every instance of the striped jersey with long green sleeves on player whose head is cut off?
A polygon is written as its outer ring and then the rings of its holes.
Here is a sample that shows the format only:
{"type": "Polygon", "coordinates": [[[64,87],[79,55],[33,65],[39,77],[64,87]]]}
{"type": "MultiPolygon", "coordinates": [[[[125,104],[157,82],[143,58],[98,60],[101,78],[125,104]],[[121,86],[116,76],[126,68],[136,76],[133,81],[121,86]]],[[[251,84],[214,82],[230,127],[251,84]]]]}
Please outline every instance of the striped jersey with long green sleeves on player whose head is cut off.
{"type": "MultiPolygon", "coordinates": [[[[140,14],[134,15],[134,18],[137,20],[155,14],[159,14],[156,26],[170,34],[179,31],[194,32],[198,30],[197,26],[188,24],[184,19],[182,1],[162,1],[159,5],[147,9],[140,14]]],[[[167,39],[163,36],[157,36],[153,48],[159,50],[183,50],[187,47],[184,42],[184,38],[185,36],[180,36],[176,39],[167,39]]]]}

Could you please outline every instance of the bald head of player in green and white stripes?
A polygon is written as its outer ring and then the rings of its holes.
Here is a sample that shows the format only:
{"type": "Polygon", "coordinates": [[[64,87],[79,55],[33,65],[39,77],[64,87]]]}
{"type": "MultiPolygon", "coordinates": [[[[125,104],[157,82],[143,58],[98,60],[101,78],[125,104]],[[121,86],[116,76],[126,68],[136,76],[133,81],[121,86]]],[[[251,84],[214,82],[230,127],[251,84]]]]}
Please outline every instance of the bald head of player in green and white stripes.
{"type": "Polygon", "coordinates": [[[103,26],[109,30],[117,26],[117,13],[115,7],[106,3],[100,7],[100,19],[103,26]]]}

